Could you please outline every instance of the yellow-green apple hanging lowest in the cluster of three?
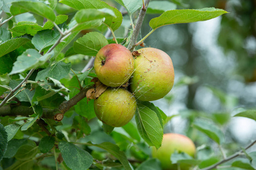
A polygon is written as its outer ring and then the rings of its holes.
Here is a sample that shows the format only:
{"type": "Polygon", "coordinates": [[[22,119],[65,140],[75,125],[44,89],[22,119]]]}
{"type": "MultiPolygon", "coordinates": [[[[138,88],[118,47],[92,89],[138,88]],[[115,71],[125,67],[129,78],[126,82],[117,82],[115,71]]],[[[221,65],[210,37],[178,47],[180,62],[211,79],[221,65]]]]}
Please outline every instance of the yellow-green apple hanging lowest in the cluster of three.
{"type": "Polygon", "coordinates": [[[107,125],[121,127],[133,118],[137,103],[135,97],[123,88],[108,88],[94,100],[94,111],[98,119],[107,125]]]}

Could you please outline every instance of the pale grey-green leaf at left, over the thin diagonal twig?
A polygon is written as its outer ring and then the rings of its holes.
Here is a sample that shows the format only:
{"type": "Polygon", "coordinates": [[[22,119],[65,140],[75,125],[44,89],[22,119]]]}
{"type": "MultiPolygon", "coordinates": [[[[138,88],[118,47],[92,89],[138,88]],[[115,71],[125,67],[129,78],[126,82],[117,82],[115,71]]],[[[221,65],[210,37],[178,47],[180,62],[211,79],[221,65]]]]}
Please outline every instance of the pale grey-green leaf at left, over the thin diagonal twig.
{"type": "Polygon", "coordinates": [[[14,62],[13,70],[11,74],[21,73],[23,71],[35,69],[38,66],[42,66],[44,63],[51,58],[53,52],[41,56],[35,49],[27,49],[26,52],[22,53],[14,62]]]}

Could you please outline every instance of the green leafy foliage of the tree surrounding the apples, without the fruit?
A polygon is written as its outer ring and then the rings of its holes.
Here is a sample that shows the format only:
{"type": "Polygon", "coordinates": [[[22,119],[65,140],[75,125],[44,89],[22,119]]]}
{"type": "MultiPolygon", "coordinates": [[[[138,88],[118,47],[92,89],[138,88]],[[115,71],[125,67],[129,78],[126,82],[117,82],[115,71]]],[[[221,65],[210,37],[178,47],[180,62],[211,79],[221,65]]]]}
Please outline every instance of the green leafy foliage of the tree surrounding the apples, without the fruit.
{"type": "MultiPolygon", "coordinates": [[[[90,69],[82,73],[76,70],[76,63],[88,62],[107,44],[130,44],[136,50],[159,27],[209,20],[228,12],[218,8],[176,9],[187,7],[181,1],[148,2],[0,1],[5,18],[0,23],[2,169],[160,169],[159,160],[151,158],[150,147],[161,146],[165,125],[174,116],[167,116],[153,103],[138,101],[135,118],[122,128],[102,125],[94,113],[93,100],[86,99],[96,77],[94,69],[89,62],[90,69]],[[127,12],[115,8],[120,5],[127,12]],[[141,13],[146,10],[147,15],[157,15],[143,23],[152,29],[141,40],[136,37],[133,41],[131,36],[141,27],[134,29],[134,23],[142,24],[141,13]]],[[[176,86],[189,83],[195,80],[187,78],[176,86]]],[[[235,116],[255,120],[255,112],[250,109],[235,116]]],[[[189,120],[187,134],[202,139],[205,145],[196,143],[195,158],[173,154],[170,159],[178,167],[189,164],[196,169],[213,169],[243,153],[243,158],[227,165],[255,168],[255,152],[246,151],[255,142],[229,157],[222,150],[228,144],[222,127],[230,113],[209,116],[188,110],[179,116],[189,120]],[[209,139],[221,148],[218,155],[208,147],[209,139]]]]}

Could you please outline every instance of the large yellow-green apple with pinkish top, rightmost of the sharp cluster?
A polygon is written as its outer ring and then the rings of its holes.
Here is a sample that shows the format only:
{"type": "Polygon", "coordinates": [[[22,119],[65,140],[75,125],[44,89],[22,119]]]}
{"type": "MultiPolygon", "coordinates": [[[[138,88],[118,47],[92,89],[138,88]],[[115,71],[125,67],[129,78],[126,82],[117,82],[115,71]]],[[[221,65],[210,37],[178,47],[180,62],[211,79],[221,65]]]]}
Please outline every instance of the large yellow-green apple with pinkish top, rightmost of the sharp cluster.
{"type": "Polygon", "coordinates": [[[142,101],[158,100],[174,85],[174,66],[168,54],[156,48],[142,48],[134,59],[131,92],[142,101]]]}

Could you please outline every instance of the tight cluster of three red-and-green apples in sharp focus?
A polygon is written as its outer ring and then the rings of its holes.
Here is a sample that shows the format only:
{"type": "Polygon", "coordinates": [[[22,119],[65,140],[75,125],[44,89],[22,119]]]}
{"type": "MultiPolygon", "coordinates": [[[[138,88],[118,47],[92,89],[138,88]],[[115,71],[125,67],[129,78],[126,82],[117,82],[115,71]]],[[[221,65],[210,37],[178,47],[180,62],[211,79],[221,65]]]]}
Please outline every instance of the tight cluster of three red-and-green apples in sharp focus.
{"type": "Polygon", "coordinates": [[[174,84],[170,56],[155,48],[139,49],[134,57],[125,46],[108,44],[98,51],[94,69],[100,82],[109,86],[94,100],[94,111],[113,127],[124,126],[133,118],[137,99],[161,99],[174,84]],[[127,82],[129,86],[124,89],[127,82]]]}

